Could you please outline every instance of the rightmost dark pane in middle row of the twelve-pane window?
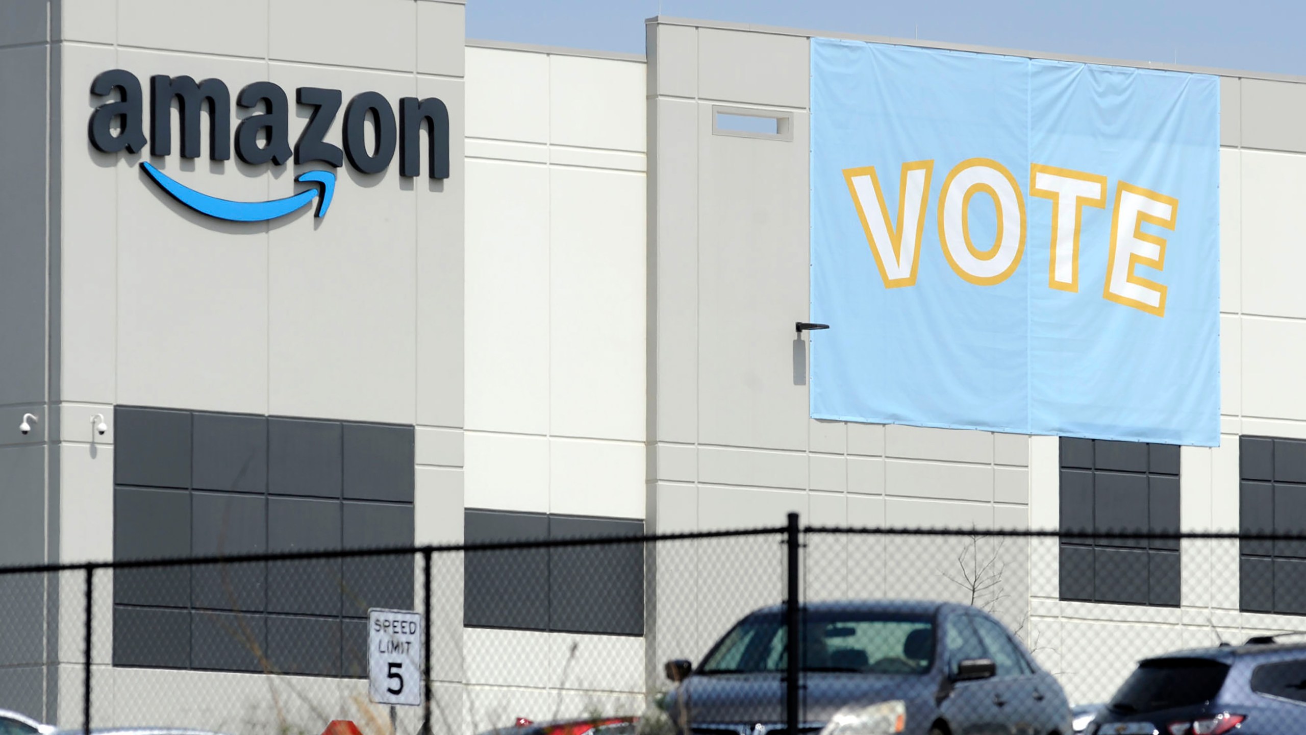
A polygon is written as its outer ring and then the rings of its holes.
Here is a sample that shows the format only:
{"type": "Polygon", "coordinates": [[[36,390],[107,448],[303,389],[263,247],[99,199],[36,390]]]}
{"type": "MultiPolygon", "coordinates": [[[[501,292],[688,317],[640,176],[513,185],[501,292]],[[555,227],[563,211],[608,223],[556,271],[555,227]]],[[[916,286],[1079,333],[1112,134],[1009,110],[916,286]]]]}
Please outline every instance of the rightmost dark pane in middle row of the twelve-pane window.
{"type": "MultiPolygon", "coordinates": [[[[345,502],[345,547],[377,548],[413,544],[413,506],[345,502]]],[[[345,615],[366,616],[370,607],[413,608],[411,553],[346,558],[345,615]]]]}

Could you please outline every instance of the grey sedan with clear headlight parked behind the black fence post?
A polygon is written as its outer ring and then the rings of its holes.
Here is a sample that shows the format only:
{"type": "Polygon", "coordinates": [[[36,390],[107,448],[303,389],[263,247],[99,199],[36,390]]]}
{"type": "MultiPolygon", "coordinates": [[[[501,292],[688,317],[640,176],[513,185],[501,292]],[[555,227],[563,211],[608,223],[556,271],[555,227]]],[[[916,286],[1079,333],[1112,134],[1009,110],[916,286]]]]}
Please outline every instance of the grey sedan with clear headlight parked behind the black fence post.
{"type": "MultiPolygon", "coordinates": [[[[938,602],[827,602],[799,626],[801,732],[1013,735],[1071,732],[1070,706],[989,613],[938,602]]],[[[782,607],[734,625],[697,667],[673,660],[667,715],[680,735],[785,730],[782,607]]],[[[799,734],[785,734],[799,735],[799,734]]]]}

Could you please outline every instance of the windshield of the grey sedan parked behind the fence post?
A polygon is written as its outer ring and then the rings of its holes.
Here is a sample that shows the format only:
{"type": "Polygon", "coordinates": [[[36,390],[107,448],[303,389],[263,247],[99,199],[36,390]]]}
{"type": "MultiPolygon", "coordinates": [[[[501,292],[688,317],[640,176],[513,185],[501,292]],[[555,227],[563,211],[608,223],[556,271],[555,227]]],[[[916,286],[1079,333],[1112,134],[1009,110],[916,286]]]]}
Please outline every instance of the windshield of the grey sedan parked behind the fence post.
{"type": "MultiPolygon", "coordinates": [[[[934,620],[891,612],[808,612],[802,621],[804,671],[925,674],[934,659],[934,620]]],[[[712,649],[697,674],[784,671],[789,640],[780,613],[754,615],[712,649]]]]}

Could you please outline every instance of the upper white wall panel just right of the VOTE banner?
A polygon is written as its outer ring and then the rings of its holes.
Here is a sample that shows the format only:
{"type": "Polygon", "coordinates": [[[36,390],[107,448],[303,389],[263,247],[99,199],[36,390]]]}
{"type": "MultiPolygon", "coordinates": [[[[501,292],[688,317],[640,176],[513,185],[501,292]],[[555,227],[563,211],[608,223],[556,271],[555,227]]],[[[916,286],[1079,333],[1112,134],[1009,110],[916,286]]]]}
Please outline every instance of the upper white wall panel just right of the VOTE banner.
{"type": "Polygon", "coordinates": [[[1242,152],[1242,310],[1306,318],[1306,156],[1242,152]]]}

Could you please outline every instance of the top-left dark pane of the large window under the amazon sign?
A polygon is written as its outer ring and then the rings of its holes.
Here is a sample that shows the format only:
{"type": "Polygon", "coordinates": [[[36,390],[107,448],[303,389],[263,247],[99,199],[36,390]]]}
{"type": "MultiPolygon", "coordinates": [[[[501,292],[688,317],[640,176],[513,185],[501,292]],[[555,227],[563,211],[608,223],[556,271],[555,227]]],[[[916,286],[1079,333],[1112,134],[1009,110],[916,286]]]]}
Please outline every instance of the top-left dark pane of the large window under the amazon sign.
{"type": "Polygon", "coordinates": [[[157,408],[115,408],[114,483],[191,487],[191,415],[157,408]]]}

